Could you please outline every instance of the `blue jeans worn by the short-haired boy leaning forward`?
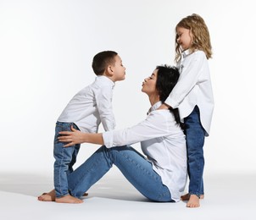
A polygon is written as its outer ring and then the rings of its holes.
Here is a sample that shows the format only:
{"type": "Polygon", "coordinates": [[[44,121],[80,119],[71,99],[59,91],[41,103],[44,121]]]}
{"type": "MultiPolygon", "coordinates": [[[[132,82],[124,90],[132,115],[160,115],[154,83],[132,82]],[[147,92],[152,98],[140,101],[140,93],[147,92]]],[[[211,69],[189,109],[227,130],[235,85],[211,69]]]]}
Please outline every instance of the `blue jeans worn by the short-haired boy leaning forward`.
{"type": "Polygon", "coordinates": [[[65,143],[58,141],[58,132],[70,131],[71,125],[73,125],[74,129],[78,129],[74,123],[57,122],[55,127],[53,156],[55,158],[54,188],[57,198],[69,195],[67,176],[73,172],[73,165],[76,162],[76,156],[80,149],[80,145],[63,147],[65,143]]]}

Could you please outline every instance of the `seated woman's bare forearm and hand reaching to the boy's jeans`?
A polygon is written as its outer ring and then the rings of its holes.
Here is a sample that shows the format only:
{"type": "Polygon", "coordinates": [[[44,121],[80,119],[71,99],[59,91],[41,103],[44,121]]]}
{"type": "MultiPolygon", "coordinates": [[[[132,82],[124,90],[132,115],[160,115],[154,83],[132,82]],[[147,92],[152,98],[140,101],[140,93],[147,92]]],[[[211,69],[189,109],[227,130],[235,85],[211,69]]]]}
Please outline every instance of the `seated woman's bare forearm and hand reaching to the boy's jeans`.
{"type": "Polygon", "coordinates": [[[58,134],[61,135],[58,137],[58,140],[61,142],[69,142],[64,146],[74,146],[75,144],[81,143],[91,143],[97,145],[103,145],[103,134],[90,134],[90,133],[83,133],[80,130],[74,129],[71,126],[72,131],[60,131],[58,134]]]}

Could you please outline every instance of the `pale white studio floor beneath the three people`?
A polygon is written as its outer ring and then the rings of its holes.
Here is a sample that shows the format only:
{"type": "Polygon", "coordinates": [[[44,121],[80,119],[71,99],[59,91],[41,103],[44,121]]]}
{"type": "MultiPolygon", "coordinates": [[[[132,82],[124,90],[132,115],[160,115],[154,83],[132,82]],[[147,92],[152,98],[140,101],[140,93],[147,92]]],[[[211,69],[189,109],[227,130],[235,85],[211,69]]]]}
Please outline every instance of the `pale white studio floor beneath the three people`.
{"type": "Polygon", "coordinates": [[[197,219],[247,220],[255,217],[256,174],[206,176],[201,207],[147,201],[120,173],[108,173],[82,204],[37,201],[52,189],[52,177],[35,173],[0,173],[0,219],[197,219]]]}

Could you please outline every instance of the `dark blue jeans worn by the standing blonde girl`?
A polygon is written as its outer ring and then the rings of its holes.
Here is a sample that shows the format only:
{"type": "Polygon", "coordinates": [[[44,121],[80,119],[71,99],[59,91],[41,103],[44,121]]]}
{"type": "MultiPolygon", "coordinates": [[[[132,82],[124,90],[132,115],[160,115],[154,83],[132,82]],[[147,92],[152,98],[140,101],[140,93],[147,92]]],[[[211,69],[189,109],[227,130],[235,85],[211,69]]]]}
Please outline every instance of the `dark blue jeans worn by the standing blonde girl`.
{"type": "Polygon", "coordinates": [[[186,125],[187,169],[189,176],[188,192],[190,195],[203,195],[203,144],[205,130],[200,122],[198,106],[184,118],[186,125]]]}

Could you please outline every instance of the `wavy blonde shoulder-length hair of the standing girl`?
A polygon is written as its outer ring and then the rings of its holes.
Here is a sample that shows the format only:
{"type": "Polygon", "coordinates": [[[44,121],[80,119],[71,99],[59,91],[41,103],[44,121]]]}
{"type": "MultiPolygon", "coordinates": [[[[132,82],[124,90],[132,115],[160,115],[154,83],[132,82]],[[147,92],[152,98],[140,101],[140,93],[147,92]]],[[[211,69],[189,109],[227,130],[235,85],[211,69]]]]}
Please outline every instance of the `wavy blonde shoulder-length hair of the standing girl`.
{"type": "Polygon", "coordinates": [[[212,58],[212,46],[210,42],[209,30],[207,25],[205,24],[202,17],[198,14],[192,14],[187,16],[176,25],[175,32],[175,62],[178,62],[181,59],[181,47],[178,43],[178,35],[177,28],[182,27],[188,30],[191,30],[192,33],[192,45],[189,48],[191,52],[195,52],[196,50],[202,50],[206,58],[212,58]]]}

